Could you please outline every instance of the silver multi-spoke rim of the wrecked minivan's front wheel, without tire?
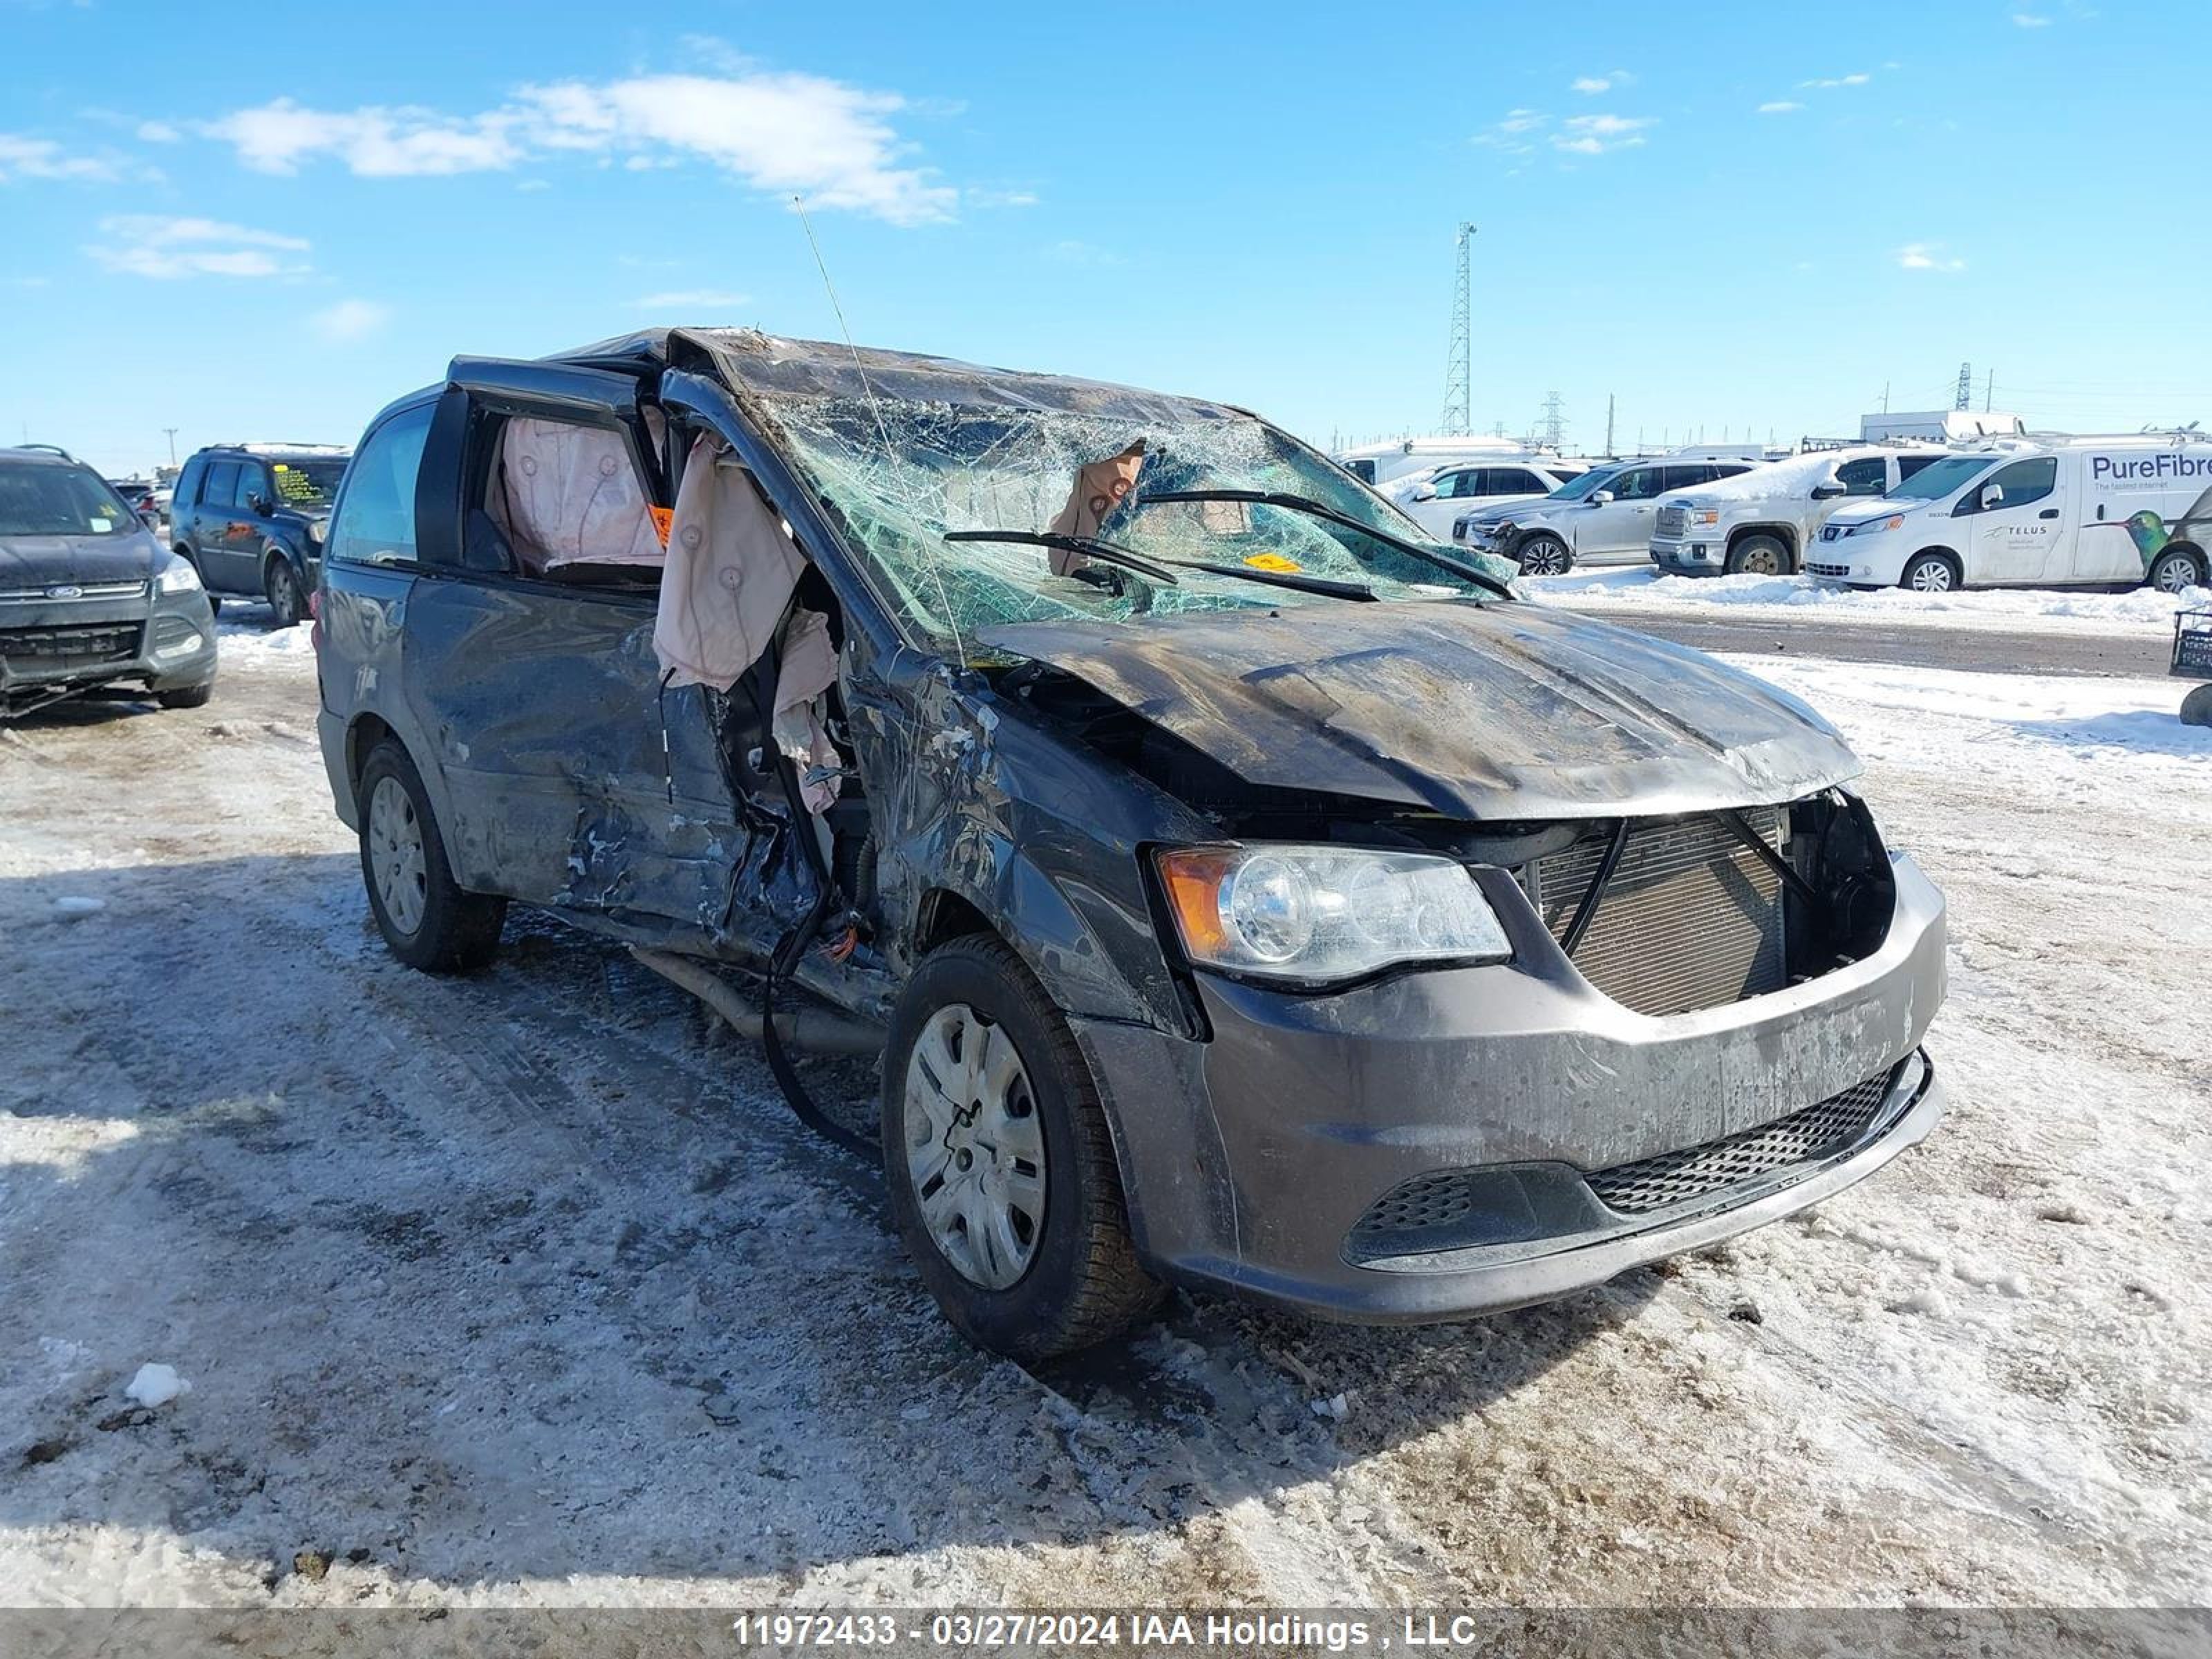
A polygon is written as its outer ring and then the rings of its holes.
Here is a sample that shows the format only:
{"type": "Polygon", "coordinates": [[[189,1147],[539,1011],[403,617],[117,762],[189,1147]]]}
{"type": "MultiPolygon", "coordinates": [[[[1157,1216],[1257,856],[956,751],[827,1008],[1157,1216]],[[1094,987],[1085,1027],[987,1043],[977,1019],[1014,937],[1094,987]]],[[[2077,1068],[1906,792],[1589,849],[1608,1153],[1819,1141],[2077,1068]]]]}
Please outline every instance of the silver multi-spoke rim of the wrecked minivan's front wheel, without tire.
{"type": "Polygon", "coordinates": [[[984,1290],[1015,1285],[1044,1237],[1044,1121],[1013,1035],[964,1002],[907,1060],[907,1181],[931,1243],[984,1290]]]}

